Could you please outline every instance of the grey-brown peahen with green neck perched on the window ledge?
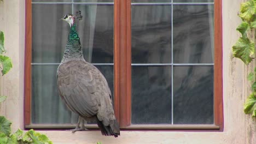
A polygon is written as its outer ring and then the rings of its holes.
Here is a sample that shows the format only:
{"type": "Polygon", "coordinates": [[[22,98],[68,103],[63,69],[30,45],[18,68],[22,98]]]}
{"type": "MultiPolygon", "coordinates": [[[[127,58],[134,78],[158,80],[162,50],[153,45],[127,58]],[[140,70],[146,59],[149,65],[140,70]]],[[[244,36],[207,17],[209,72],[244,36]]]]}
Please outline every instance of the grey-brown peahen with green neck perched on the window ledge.
{"type": "Polygon", "coordinates": [[[85,61],[75,29],[74,15],[67,14],[62,20],[68,22],[71,28],[61,64],[57,69],[57,87],[67,107],[79,115],[73,133],[87,130],[84,121],[95,120],[102,135],[118,137],[120,129],[114,115],[108,83],[100,70],[85,61]]]}

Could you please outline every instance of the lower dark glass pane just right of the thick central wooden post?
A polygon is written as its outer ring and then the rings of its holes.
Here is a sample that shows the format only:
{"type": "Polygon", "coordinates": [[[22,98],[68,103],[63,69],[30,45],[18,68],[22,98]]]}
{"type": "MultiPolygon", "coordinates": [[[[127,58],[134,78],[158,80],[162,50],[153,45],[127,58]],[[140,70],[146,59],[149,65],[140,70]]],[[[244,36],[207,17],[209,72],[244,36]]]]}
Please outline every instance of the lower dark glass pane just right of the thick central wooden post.
{"type": "Polygon", "coordinates": [[[132,66],[132,124],[171,123],[171,67],[132,66]]]}

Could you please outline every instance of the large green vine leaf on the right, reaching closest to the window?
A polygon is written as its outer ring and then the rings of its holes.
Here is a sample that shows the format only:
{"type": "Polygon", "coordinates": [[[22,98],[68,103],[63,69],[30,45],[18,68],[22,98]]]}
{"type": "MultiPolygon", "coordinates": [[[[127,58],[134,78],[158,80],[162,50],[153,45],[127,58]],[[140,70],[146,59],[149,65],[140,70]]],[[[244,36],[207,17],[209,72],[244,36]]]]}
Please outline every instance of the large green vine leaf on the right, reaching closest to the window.
{"type": "Polygon", "coordinates": [[[239,38],[232,47],[234,57],[240,58],[246,65],[252,61],[254,55],[254,43],[248,38],[239,38]]]}

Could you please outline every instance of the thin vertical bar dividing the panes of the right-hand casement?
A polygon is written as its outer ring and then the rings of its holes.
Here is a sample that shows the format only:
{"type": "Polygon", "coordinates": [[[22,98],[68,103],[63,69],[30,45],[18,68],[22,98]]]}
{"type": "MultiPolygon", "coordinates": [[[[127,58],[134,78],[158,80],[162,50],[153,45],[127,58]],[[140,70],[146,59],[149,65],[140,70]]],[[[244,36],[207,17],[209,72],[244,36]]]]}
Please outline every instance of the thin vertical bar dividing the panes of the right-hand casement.
{"type": "MultiPolygon", "coordinates": [[[[173,0],[172,0],[172,2],[173,2],[173,0]]],[[[171,60],[171,61],[172,61],[172,63],[173,63],[173,4],[172,4],[171,11],[172,11],[172,12],[171,12],[171,38],[172,38],[172,39],[171,39],[171,52],[172,52],[172,56],[171,56],[171,57],[172,57],[172,58],[171,58],[172,60],[171,60]]],[[[172,81],[172,82],[171,82],[171,84],[172,84],[172,87],[171,87],[171,91],[172,91],[172,92],[171,92],[171,97],[172,97],[172,98],[171,98],[171,99],[172,99],[172,102],[171,102],[171,103],[172,103],[172,106],[171,106],[171,109],[172,109],[172,110],[171,110],[171,112],[172,112],[172,115],[171,115],[171,117],[172,117],[172,118],[171,118],[171,122],[172,122],[172,124],[173,124],[173,65],[172,65],[172,70],[171,70],[171,71],[172,71],[172,74],[171,74],[171,79],[172,79],[172,80],[171,80],[171,81],[172,81]]]]}

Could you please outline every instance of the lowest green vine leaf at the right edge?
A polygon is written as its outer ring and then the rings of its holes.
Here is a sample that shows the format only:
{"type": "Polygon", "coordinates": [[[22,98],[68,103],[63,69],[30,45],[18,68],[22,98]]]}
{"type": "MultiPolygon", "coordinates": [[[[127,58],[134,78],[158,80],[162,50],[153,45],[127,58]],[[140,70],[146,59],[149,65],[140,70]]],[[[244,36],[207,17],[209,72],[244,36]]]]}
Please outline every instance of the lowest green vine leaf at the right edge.
{"type": "Polygon", "coordinates": [[[246,114],[252,113],[252,116],[256,116],[256,93],[252,93],[249,95],[249,97],[246,100],[246,103],[244,105],[244,109],[246,114]]]}

